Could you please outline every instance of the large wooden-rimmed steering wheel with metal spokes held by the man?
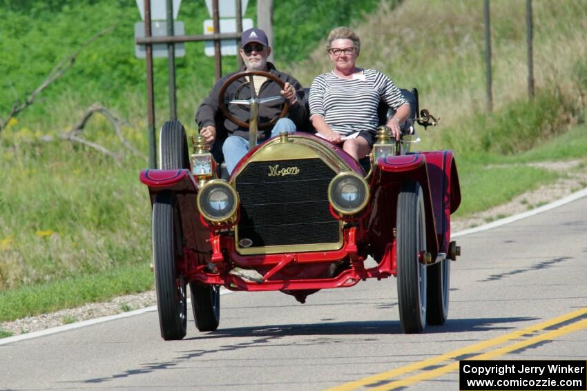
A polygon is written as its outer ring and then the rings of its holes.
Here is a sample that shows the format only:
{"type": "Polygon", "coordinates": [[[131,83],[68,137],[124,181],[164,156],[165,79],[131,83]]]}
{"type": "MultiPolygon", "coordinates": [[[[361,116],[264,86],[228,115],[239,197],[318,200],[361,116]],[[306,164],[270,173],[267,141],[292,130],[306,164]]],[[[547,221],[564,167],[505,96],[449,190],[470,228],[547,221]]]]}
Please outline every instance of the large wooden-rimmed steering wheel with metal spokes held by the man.
{"type": "MultiPolygon", "coordinates": [[[[287,114],[287,110],[289,110],[289,101],[287,101],[287,99],[284,99],[284,97],[282,97],[281,95],[278,95],[276,97],[267,97],[267,98],[259,99],[257,97],[257,93],[255,92],[255,86],[253,85],[253,82],[252,82],[253,76],[267,77],[267,79],[271,79],[271,80],[275,81],[276,83],[278,83],[278,85],[281,87],[282,90],[283,90],[283,88],[285,88],[285,82],[282,81],[280,78],[278,78],[276,75],[274,75],[272,73],[264,72],[262,70],[249,70],[249,71],[245,71],[245,72],[238,72],[236,74],[233,74],[231,77],[229,77],[227,79],[227,81],[224,81],[224,84],[222,84],[222,87],[220,88],[220,92],[218,92],[218,106],[220,107],[222,114],[224,114],[224,117],[227,117],[227,119],[229,119],[231,122],[235,123],[236,125],[240,126],[241,128],[249,128],[249,123],[240,121],[240,119],[236,118],[231,112],[229,112],[229,110],[227,108],[227,103],[237,104],[237,105],[242,105],[242,106],[253,106],[253,103],[254,103],[258,107],[258,105],[262,105],[263,103],[275,103],[278,101],[285,101],[285,104],[283,106],[283,110],[281,110],[280,114],[277,117],[271,119],[271,121],[262,122],[262,123],[257,124],[259,129],[269,128],[270,126],[275,125],[275,123],[277,122],[278,119],[285,117],[285,114],[287,114]],[[233,99],[232,101],[225,102],[224,101],[224,92],[226,92],[227,88],[229,88],[229,86],[234,81],[241,79],[243,77],[251,78],[251,99],[233,99]]],[[[248,83],[248,81],[247,81],[247,83],[248,83]]],[[[258,117],[258,110],[251,110],[251,116],[258,117]]],[[[253,118],[251,118],[250,122],[253,122],[253,121],[257,122],[258,118],[254,119],[254,120],[253,120],[253,118]]]]}

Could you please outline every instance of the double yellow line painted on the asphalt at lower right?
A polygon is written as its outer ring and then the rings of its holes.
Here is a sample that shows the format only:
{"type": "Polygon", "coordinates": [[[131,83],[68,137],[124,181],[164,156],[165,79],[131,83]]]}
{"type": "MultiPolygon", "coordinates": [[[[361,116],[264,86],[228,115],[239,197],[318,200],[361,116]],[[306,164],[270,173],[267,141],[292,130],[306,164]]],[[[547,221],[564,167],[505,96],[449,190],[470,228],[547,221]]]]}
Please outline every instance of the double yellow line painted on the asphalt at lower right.
{"type": "Polygon", "coordinates": [[[459,370],[459,357],[466,357],[466,359],[475,360],[494,359],[495,357],[499,357],[503,354],[508,354],[510,352],[514,352],[522,348],[527,348],[531,345],[536,345],[537,343],[540,343],[542,341],[555,339],[557,337],[560,337],[561,335],[587,328],[587,319],[583,319],[586,314],[587,307],[581,308],[580,310],[564,314],[561,317],[550,319],[543,323],[532,325],[527,328],[511,332],[510,334],[503,335],[501,337],[488,339],[487,341],[475,343],[474,345],[470,345],[465,348],[441,354],[437,357],[431,357],[430,359],[418,361],[416,363],[405,365],[400,368],[395,368],[393,370],[388,370],[386,372],[381,372],[380,374],[375,374],[374,376],[365,377],[365,379],[351,381],[349,383],[339,385],[334,388],[329,388],[328,391],[356,390],[358,388],[369,385],[369,391],[394,390],[395,388],[405,387],[407,385],[417,383],[418,381],[433,379],[435,377],[442,376],[443,374],[459,370]],[[546,331],[546,329],[552,328],[553,326],[559,325],[561,323],[567,324],[561,325],[559,328],[556,328],[555,330],[546,331]],[[536,333],[539,334],[531,335],[536,333]],[[509,341],[512,341],[512,343],[510,343],[509,345],[505,345],[501,348],[495,348],[494,350],[486,351],[489,348],[493,348],[497,345],[502,345],[503,343],[507,343],[509,341]],[[476,353],[479,354],[472,355],[476,353]],[[407,377],[402,377],[404,375],[411,374],[412,372],[423,370],[424,368],[428,368],[432,365],[441,364],[444,365],[438,368],[434,368],[433,370],[418,372],[407,377]],[[402,378],[397,379],[399,377],[402,378]],[[376,383],[383,384],[378,385],[377,387],[373,387],[372,385],[376,383]]]}

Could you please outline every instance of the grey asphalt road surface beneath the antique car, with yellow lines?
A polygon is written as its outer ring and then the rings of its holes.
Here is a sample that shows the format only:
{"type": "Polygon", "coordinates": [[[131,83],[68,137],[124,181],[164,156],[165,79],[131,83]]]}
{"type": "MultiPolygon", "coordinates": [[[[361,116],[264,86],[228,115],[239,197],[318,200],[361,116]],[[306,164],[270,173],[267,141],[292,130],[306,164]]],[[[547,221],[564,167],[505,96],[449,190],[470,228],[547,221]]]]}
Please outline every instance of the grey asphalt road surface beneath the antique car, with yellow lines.
{"type": "Polygon", "coordinates": [[[449,319],[423,334],[401,334],[394,278],[230,293],[183,341],[151,311],[0,345],[0,390],[458,390],[464,357],[587,358],[587,197],[457,242],[449,319]]]}

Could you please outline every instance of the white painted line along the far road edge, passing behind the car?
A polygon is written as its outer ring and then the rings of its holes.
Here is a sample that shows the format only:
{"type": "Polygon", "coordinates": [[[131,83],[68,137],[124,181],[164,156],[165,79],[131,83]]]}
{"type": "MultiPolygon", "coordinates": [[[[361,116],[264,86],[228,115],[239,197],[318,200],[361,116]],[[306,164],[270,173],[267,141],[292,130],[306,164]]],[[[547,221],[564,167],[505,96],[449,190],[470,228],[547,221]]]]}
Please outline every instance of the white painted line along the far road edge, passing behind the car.
{"type": "MultiPolygon", "coordinates": [[[[575,201],[577,199],[580,199],[580,198],[583,198],[586,196],[587,196],[587,188],[584,188],[583,190],[579,190],[578,192],[574,192],[574,193],[570,194],[568,197],[565,197],[564,199],[559,199],[558,201],[548,203],[546,205],[542,205],[539,208],[528,210],[528,212],[523,212],[520,214],[516,214],[514,216],[506,217],[504,219],[492,221],[491,223],[488,223],[485,225],[480,225],[479,227],[470,228],[468,230],[463,230],[463,231],[459,231],[459,232],[454,232],[454,234],[451,234],[450,237],[451,237],[451,239],[454,237],[463,237],[468,234],[474,234],[477,232],[490,230],[492,228],[497,228],[497,227],[500,227],[501,225],[513,223],[514,221],[526,219],[526,217],[534,216],[535,214],[539,214],[541,212],[546,212],[547,210],[557,208],[561,205],[565,205],[566,203],[570,203],[572,201],[575,201]]],[[[231,290],[227,290],[224,288],[220,289],[220,294],[228,294],[231,292],[232,292],[231,290]]],[[[57,334],[58,332],[75,330],[76,328],[83,328],[88,325],[95,325],[98,323],[113,321],[115,319],[134,317],[135,315],[144,314],[145,312],[154,312],[156,310],[157,310],[157,307],[155,305],[152,305],[151,307],[142,308],[140,310],[122,312],[122,314],[115,314],[115,315],[110,315],[108,317],[101,317],[101,318],[96,318],[96,319],[88,319],[87,321],[71,323],[68,325],[61,325],[61,326],[58,326],[55,328],[48,328],[46,330],[30,332],[27,334],[19,334],[19,335],[15,335],[15,337],[6,337],[6,338],[0,339],[0,345],[6,345],[6,344],[12,343],[12,342],[24,341],[26,339],[44,337],[45,335],[57,334]]]]}

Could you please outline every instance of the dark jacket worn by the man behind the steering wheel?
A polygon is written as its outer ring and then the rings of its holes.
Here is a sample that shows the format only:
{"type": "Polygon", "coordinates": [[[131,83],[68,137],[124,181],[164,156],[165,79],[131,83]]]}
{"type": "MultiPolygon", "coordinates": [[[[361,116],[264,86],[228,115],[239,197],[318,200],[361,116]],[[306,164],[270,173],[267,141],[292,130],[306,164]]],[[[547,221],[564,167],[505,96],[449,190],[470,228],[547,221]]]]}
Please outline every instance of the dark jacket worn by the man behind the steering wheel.
{"type": "MultiPolygon", "coordinates": [[[[296,123],[296,127],[298,131],[305,130],[302,129],[303,126],[307,123],[307,109],[305,106],[305,97],[304,97],[304,89],[302,88],[301,84],[291,77],[289,74],[284,72],[279,72],[276,70],[275,66],[272,63],[267,63],[267,68],[269,72],[276,75],[284,82],[288,82],[294,88],[296,88],[296,94],[298,95],[298,101],[293,105],[289,106],[289,112],[287,117],[296,123]]],[[[240,68],[238,72],[244,72],[246,68],[244,66],[240,68]]],[[[204,126],[213,125],[216,127],[217,132],[217,139],[218,141],[222,142],[227,136],[240,136],[244,137],[244,139],[249,139],[249,129],[243,129],[239,126],[235,125],[228,119],[224,118],[220,108],[218,106],[218,93],[220,92],[220,88],[224,81],[226,81],[229,77],[233,76],[237,72],[233,72],[231,74],[227,74],[226,76],[222,77],[222,79],[218,80],[212,92],[204,99],[200,108],[198,108],[198,112],[195,114],[195,121],[198,123],[198,128],[202,129],[204,126]],[[222,121],[224,121],[222,123],[222,121]]],[[[248,79],[248,78],[247,78],[248,79]]],[[[251,98],[251,90],[250,84],[247,83],[242,88],[240,88],[241,83],[244,82],[245,79],[238,79],[238,81],[234,81],[231,83],[231,86],[227,88],[224,92],[224,101],[227,102],[232,99],[250,99],[251,98]],[[239,83],[240,81],[240,83],[239,83]],[[238,97],[235,96],[236,92],[238,92],[238,97]]],[[[248,81],[248,80],[247,80],[248,81]]],[[[271,79],[267,79],[262,86],[261,90],[259,91],[260,98],[266,97],[278,97],[280,96],[281,87],[275,81],[271,79]]],[[[271,119],[277,117],[281,110],[282,110],[282,103],[278,103],[276,105],[272,105],[271,103],[262,104],[259,106],[259,123],[268,122],[271,119]]],[[[240,121],[249,123],[249,108],[246,106],[238,106],[235,104],[227,105],[227,109],[240,121]]],[[[271,135],[271,128],[268,129],[260,129],[258,132],[258,139],[267,139],[271,135]]]]}

